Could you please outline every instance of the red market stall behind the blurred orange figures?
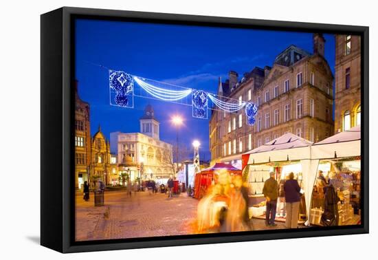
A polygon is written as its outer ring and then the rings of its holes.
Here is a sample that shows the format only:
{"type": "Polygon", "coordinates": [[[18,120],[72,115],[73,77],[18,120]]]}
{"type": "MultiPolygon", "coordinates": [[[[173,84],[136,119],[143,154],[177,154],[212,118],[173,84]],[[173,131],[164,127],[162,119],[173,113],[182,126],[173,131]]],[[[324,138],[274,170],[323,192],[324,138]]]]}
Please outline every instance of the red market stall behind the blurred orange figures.
{"type": "Polygon", "coordinates": [[[208,186],[210,186],[212,183],[217,183],[218,172],[224,170],[230,175],[241,175],[240,169],[236,169],[231,164],[225,163],[216,163],[210,168],[203,169],[195,175],[194,197],[196,199],[203,197],[208,189],[208,186]]]}

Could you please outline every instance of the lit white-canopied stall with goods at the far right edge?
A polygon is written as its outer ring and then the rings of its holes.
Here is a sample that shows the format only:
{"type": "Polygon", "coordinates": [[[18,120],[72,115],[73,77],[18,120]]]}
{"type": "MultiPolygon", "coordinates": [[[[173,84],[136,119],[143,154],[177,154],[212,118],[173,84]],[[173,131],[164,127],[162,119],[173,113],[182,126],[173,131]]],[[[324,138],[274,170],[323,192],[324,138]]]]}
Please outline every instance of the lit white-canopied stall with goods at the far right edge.
{"type": "MultiPolygon", "coordinates": [[[[312,175],[317,176],[318,181],[317,173],[322,171],[324,179],[332,184],[341,201],[337,205],[337,225],[357,224],[360,219],[361,127],[353,127],[313,144],[311,158],[313,164],[317,164],[312,175]]],[[[321,225],[320,217],[324,211],[321,186],[315,182],[313,188],[310,222],[315,225],[321,225]]]]}

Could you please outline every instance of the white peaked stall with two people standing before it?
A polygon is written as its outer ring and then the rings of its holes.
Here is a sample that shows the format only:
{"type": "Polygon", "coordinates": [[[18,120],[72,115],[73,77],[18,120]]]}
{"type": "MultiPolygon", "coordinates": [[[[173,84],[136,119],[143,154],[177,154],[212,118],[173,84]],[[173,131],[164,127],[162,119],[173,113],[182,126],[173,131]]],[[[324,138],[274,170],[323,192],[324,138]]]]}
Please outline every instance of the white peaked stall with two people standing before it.
{"type": "Polygon", "coordinates": [[[249,206],[252,206],[249,208],[251,217],[261,217],[265,211],[263,186],[271,171],[276,173],[278,182],[290,172],[295,174],[304,194],[300,212],[302,217],[306,217],[313,189],[312,180],[315,180],[315,176],[309,174],[315,171],[311,164],[311,144],[293,133],[285,133],[242,155],[243,175],[249,188],[249,206]]]}

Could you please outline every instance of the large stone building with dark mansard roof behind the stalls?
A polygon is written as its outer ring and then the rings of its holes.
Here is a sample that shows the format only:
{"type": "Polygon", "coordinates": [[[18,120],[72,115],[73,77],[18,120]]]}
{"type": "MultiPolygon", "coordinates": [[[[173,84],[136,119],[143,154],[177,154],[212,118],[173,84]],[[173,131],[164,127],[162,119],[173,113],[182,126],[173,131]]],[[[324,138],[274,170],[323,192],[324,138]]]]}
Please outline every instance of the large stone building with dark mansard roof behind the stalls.
{"type": "Polygon", "coordinates": [[[219,83],[219,96],[258,105],[256,123],[237,113],[213,111],[210,118],[212,164],[239,166],[241,154],[291,132],[318,142],[333,133],[333,75],[324,59],[324,37],[313,35],[313,54],[291,45],[278,54],[272,67],[255,67],[238,81],[219,83]]]}

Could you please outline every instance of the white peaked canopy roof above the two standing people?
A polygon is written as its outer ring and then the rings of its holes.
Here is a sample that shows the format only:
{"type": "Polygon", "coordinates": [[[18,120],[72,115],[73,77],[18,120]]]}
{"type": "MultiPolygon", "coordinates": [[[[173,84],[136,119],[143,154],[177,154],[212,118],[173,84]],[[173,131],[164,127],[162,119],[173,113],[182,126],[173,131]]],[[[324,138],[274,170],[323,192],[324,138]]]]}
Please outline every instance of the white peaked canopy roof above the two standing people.
{"type": "Polygon", "coordinates": [[[249,155],[248,164],[310,160],[311,144],[309,140],[293,133],[285,133],[245,154],[249,155]]]}

